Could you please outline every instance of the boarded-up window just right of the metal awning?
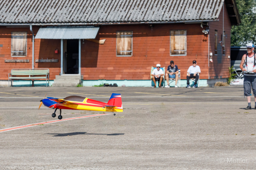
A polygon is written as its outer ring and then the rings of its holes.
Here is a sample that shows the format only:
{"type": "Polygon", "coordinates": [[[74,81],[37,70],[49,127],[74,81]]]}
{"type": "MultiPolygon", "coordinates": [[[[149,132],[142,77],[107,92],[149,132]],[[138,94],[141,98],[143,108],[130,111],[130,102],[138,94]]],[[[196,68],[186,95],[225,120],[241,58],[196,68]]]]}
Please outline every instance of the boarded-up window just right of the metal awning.
{"type": "Polygon", "coordinates": [[[132,31],[116,32],[116,56],[132,56],[132,31]]]}

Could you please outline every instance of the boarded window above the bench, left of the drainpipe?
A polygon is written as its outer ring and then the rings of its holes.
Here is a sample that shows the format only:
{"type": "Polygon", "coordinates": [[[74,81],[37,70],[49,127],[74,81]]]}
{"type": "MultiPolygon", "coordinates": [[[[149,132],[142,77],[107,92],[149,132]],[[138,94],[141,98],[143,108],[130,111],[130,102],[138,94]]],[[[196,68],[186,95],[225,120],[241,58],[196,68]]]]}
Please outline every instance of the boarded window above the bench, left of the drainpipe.
{"type": "Polygon", "coordinates": [[[27,55],[27,32],[12,32],[12,56],[27,55]]]}

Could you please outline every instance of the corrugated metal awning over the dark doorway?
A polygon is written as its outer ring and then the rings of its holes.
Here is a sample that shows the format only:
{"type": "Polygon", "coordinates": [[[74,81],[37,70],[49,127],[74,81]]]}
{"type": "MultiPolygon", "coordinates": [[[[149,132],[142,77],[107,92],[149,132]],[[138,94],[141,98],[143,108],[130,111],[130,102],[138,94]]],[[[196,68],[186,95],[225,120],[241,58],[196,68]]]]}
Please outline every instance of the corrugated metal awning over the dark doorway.
{"type": "Polygon", "coordinates": [[[95,39],[100,27],[48,26],[40,28],[35,39],[95,39]]]}

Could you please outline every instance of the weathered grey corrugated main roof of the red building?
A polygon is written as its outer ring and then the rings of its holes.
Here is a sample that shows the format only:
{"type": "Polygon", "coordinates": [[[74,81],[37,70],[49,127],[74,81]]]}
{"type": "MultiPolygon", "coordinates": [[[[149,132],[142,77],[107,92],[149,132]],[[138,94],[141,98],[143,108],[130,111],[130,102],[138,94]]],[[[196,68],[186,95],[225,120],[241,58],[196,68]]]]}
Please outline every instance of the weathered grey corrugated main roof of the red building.
{"type": "Polygon", "coordinates": [[[224,0],[0,0],[0,23],[212,20],[224,0]]]}

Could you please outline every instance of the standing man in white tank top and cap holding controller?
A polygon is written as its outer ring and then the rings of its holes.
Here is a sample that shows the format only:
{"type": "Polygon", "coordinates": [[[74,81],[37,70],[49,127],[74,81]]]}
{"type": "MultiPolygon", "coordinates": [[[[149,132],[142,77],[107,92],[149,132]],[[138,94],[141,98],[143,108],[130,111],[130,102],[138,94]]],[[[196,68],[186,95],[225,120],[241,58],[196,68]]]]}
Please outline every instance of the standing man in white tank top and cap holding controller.
{"type": "Polygon", "coordinates": [[[253,72],[252,74],[244,73],[244,96],[247,97],[248,106],[245,109],[252,109],[251,107],[251,86],[255,99],[255,107],[256,108],[256,68],[255,68],[255,53],[254,45],[252,43],[247,44],[247,54],[243,55],[242,61],[240,63],[240,69],[243,71],[253,72]],[[243,67],[245,62],[245,68],[243,67]]]}

